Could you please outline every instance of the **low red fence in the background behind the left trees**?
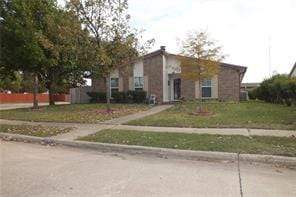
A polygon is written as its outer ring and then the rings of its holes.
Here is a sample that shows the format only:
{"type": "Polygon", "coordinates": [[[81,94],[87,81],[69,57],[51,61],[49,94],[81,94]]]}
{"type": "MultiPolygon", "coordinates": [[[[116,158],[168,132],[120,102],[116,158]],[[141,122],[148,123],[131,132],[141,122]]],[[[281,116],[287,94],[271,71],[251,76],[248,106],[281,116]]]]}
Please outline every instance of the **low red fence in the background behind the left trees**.
{"type": "MultiPolygon", "coordinates": [[[[69,102],[69,95],[54,95],[55,101],[69,102]]],[[[48,94],[38,94],[38,101],[48,102],[48,94]]],[[[0,103],[32,103],[33,94],[2,94],[0,93],[0,103]]]]}

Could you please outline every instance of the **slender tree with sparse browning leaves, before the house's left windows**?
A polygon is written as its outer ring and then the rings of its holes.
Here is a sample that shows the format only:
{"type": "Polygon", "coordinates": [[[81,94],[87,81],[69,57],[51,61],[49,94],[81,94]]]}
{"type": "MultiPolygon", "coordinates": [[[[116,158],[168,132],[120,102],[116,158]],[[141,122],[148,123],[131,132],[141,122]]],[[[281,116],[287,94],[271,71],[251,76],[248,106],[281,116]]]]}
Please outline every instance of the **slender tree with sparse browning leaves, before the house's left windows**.
{"type": "Polygon", "coordinates": [[[138,56],[138,39],[129,26],[127,0],[70,0],[68,7],[91,32],[91,72],[93,76],[105,79],[110,112],[110,73],[127,68],[138,56]]]}

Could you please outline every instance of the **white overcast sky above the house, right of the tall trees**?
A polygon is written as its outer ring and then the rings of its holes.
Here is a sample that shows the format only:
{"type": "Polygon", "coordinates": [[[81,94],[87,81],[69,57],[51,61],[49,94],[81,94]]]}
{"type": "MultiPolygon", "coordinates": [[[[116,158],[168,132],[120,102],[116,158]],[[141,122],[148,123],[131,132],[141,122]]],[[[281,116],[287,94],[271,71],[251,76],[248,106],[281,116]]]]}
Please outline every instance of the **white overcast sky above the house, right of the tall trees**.
{"type": "Polygon", "coordinates": [[[296,62],[296,0],[130,0],[132,26],[178,53],[177,38],[207,29],[228,57],[247,66],[244,82],[260,82],[271,73],[289,73],[296,62]],[[270,41],[269,41],[270,40],[270,41]]]}

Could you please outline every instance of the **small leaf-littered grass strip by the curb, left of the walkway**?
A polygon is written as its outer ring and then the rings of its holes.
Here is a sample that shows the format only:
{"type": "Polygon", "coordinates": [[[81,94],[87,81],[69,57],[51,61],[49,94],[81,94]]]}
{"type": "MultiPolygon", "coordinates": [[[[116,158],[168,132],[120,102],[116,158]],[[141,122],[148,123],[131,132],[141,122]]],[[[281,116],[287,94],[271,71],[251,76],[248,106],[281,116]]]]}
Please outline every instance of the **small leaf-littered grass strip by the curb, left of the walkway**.
{"type": "Polygon", "coordinates": [[[31,126],[31,125],[1,125],[0,132],[12,133],[21,135],[30,135],[37,137],[51,137],[62,133],[71,131],[72,128],[63,127],[44,127],[42,125],[31,126]]]}

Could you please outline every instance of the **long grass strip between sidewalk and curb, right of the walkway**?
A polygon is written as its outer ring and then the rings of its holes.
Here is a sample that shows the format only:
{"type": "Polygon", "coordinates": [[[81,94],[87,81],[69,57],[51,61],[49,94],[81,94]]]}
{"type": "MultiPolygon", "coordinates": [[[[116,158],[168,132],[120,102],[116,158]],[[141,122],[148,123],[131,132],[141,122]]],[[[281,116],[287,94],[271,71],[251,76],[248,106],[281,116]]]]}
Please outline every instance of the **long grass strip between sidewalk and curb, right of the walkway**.
{"type": "Polygon", "coordinates": [[[184,150],[296,156],[296,138],[103,130],[79,140],[184,150]]]}

